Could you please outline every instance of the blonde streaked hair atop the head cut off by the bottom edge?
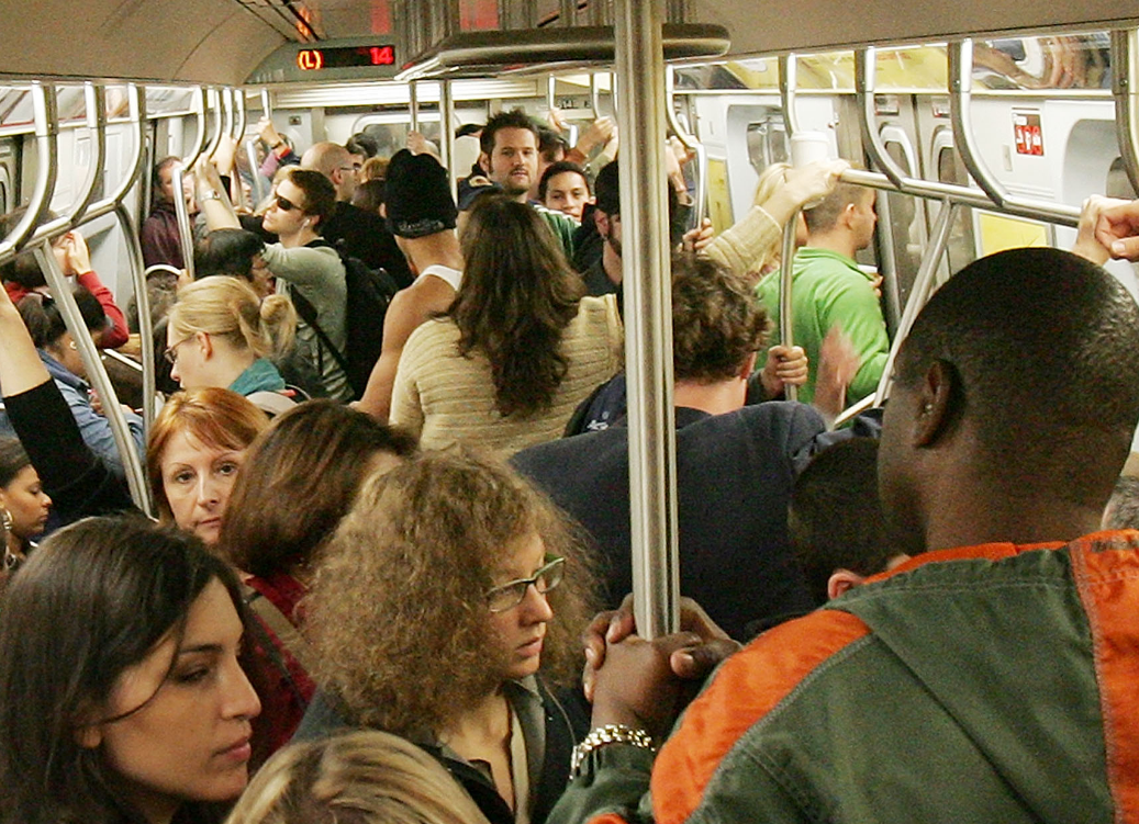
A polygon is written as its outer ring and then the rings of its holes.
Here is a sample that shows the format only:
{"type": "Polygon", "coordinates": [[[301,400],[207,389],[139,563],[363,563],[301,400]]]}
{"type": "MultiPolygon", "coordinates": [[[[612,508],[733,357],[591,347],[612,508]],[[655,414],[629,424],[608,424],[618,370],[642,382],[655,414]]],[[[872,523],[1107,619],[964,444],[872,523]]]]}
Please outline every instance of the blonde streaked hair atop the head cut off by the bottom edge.
{"type": "Polygon", "coordinates": [[[227,824],[487,824],[443,766],[388,733],[292,744],[257,772],[227,824]]]}

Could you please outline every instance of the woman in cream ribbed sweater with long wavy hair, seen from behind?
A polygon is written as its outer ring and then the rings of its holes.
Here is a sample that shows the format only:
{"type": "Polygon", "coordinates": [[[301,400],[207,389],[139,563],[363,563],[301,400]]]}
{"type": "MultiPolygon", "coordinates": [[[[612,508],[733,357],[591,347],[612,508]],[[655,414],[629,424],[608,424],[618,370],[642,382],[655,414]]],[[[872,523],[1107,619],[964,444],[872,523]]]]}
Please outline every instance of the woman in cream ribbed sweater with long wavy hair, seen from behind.
{"type": "Polygon", "coordinates": [[[461,241],[462,285],[444,318],[408,338],[391,421],[432,447],[552,440],[621,369],[616,300],[584,297],[546,222],[505,196],[478,199],[461,241]]]}

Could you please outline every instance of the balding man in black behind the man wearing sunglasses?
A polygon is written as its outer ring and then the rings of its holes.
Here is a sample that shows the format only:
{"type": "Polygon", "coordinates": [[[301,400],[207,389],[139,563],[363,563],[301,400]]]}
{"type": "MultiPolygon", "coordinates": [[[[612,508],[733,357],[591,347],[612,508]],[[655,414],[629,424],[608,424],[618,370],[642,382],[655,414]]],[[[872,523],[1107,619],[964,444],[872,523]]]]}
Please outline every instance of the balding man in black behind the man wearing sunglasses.
{"type": "Polygon", "coordinates": [[[413,278],[408,262],[384,219],[351,203],[357,179],[349,150],[327,140],[313,143],[301,156],[301,167],[320,172],[336,189],[336,209],[325,224],[325,240],[372,269],[387,270],[401,287],[410,285],[413,278]]]}

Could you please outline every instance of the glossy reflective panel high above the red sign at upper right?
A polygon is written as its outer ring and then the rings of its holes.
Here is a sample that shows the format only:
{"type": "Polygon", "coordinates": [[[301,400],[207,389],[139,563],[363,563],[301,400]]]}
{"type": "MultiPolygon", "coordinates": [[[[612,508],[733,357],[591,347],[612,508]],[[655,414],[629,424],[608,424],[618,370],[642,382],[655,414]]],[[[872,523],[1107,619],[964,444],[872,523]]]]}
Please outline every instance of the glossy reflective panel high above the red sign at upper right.
{"type": "Polygon", "coordinates": [[[988,89],[1109,89],[1111,36],[1089,32],[976,42],[973,77],[988,89]]]}

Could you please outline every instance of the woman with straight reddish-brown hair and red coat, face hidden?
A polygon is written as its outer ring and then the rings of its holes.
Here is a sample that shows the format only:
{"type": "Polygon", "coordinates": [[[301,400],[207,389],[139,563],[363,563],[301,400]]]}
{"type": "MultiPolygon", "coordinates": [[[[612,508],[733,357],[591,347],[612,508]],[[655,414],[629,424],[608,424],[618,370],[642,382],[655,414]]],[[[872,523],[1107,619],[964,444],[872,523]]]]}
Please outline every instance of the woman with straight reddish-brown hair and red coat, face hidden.
{"type": "Polygon", "coordinates": [[[312,666],[298,628],[298,604],[318,555],[369,473],[395,465],[415,440],[334,401],[310,401],[279,415],[245,455],[229,495],[220,554],[247,572],[247,601],[276,654],[267,693],[276,749],[292,738],[312,699],[312,666]]]}

